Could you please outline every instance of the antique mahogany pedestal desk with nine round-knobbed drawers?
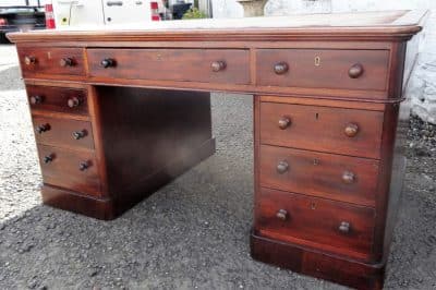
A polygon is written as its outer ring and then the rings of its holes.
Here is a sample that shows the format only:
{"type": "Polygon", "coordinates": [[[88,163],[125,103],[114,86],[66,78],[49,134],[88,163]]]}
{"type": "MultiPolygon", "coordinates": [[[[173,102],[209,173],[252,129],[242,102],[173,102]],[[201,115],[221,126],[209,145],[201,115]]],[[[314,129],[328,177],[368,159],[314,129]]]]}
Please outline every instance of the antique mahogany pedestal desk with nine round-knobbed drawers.
{"type": "Polygon", "coordinates": [[[253,94],[252,256],[379,289],[404,172],[402,92],[425,15],[9,34],[26,84],[43,201],[114,218],[214,154],[209,92],[253,94]]]}

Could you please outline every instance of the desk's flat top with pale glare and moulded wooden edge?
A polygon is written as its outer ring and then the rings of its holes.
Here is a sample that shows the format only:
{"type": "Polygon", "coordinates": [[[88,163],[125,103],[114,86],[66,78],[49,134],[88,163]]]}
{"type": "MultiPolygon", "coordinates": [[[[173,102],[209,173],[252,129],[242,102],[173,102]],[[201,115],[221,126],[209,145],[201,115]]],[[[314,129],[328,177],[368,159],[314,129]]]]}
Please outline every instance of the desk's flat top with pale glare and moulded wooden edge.
{"type": "Polygon", "coordinates": [[[75,26],[48,31],[9,34],[12,41],[40,40],[246,40],[257,36],[281,37],[403,37],[422,29],[427,14],[423,10],[378,12],[295,14],[244,19],[205,19],[123,24],[75,26]],[[238,37],[239,36],[239,37],[238,37]],[[218,39],[220,37],[221,39],[218,39]],[[238,39],[235,39],[238,38],[238,39]]]}

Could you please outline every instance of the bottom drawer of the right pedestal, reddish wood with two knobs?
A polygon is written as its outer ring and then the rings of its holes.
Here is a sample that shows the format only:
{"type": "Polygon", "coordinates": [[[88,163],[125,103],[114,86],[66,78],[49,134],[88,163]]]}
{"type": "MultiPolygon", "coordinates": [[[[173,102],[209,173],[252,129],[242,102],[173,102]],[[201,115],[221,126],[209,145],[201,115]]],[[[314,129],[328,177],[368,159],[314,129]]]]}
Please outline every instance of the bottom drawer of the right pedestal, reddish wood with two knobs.
{"type": "Polygon", "coordinates": [[[255,210],[262,235],[361,259],[371,256],[372,208],[261,189],[255,210]]]}

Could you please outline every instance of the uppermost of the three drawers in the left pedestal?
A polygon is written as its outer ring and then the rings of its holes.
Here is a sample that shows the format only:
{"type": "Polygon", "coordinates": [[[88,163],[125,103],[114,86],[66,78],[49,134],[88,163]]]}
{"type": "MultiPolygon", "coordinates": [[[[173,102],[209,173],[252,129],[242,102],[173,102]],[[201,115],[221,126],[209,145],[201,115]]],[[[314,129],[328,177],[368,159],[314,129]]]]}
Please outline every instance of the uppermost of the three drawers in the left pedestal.
{"type": "Polygon", "coordinates": [[[32,109],[88,114],[87,95],[84,89],[27,85],[32,109]]]}

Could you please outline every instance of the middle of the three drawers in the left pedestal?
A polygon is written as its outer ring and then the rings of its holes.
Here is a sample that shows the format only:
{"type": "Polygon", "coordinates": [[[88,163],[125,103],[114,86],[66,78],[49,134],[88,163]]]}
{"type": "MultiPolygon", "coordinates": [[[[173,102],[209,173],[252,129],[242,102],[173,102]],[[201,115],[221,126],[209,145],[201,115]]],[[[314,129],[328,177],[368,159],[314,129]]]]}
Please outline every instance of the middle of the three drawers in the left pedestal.
{"type": "Polygon", "coordinates": [[[90,122],[35,116],[33,123],[39,144],[94,149],[90,122]]]}

